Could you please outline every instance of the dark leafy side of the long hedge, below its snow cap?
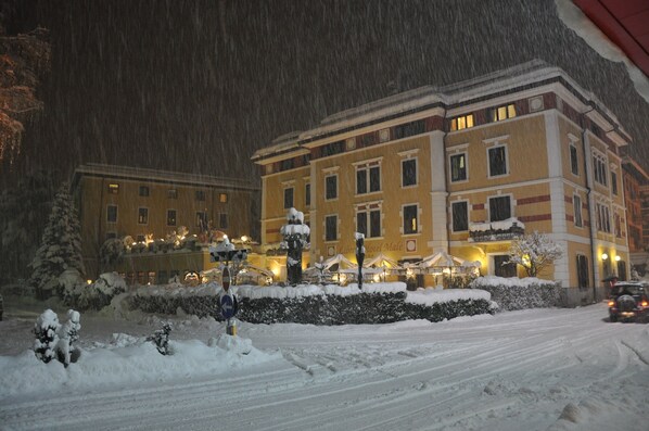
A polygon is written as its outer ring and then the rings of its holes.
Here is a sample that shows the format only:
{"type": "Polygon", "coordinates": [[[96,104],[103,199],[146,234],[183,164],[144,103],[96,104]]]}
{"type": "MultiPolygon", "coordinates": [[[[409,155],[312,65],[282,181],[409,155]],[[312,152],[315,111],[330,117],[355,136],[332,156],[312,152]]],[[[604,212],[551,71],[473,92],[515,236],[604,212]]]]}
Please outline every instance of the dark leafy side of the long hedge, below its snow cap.
{"type": "MultiPolygon", "coordinates": [[[[251,324],[372,325],[409,319],[442,321],[491,313],[485,300],[458,300],[432,306],[406,303],[406,292],[315,295],[294,299],[243,297],[238,318],[251,324]]],[[[221,320],[218,296],[130,296],[129,307],[145,313],[176,314],[178,308],[199,317],[221,320]]]]}

